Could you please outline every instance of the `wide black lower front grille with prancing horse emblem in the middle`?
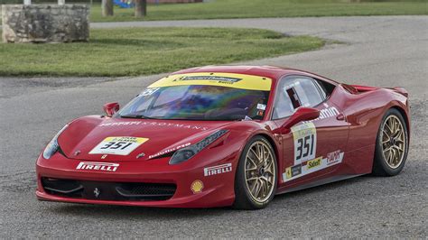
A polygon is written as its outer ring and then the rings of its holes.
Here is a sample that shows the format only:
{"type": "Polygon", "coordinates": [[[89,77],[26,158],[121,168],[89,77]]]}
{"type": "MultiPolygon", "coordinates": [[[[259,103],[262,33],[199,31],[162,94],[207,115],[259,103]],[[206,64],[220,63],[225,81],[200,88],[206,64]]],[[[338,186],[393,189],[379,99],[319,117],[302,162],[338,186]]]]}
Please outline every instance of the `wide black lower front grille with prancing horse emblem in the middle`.
{"type": "Polygon", "coordinates": [[[167,200],[172,198],[177,186],[172,183],[108,182],[91,180],[61,180],[42,178],[43,189],[67,198],[99,200],[167,200]]]}

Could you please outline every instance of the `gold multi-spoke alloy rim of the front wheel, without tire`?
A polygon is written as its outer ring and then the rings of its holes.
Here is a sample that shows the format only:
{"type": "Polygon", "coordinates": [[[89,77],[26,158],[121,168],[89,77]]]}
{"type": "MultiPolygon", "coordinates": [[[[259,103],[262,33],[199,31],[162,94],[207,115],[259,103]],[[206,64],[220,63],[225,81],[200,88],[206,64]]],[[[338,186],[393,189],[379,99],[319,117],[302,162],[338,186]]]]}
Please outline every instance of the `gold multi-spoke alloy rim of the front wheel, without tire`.
{"type": "Polygon", "coordinates": [[[256,202],[263,203],[274,191],[276,170],[273,152],[267,143],[256,141],[249,147],[245,163],[247,189],[256,202]]]}

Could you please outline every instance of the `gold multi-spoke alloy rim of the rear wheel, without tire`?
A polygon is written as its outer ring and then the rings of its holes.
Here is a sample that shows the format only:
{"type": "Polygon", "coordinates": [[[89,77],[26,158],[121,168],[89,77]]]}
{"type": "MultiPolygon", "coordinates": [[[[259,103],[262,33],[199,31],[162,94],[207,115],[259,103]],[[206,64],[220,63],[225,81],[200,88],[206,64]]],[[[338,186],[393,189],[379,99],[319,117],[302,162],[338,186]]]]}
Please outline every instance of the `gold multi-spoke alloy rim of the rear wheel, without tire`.
{"type": "Polygon", "coordinates": [[[382,154],[392,169],[400,166],[405,158],[405,127],[396,115],[389,115],[382,126],[382,154]]]}

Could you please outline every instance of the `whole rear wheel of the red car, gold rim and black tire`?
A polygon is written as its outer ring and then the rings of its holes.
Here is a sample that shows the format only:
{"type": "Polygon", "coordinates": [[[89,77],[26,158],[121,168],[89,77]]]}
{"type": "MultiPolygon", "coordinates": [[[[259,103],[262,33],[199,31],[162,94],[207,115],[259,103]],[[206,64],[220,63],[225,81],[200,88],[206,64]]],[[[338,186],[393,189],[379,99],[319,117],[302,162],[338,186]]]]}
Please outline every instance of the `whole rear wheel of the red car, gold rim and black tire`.
{"type": "Polygon", "coordinates": [[[408,152],[408,133],[405,119],[398,110],[386,112],[377,133],[373,174],[395,176],[405,166],[408,152]]]}

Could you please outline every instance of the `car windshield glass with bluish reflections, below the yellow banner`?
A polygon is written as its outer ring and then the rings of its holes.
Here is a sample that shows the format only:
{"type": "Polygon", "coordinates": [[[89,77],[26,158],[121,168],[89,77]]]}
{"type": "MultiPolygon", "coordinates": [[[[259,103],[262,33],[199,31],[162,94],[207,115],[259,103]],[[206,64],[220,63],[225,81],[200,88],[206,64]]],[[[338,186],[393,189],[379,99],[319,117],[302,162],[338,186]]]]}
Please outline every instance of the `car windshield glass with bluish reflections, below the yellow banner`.
{"type": "Polygon", "coordinates": [[[263,119],[269,91],[209,85],[146,88],[120,117],[181,120],[263,119]]]}

